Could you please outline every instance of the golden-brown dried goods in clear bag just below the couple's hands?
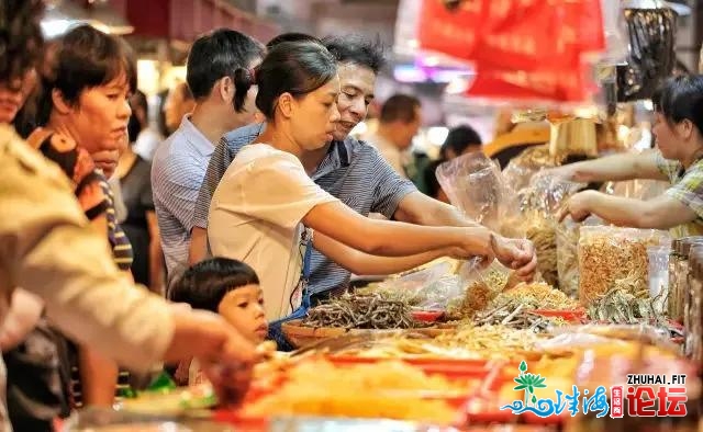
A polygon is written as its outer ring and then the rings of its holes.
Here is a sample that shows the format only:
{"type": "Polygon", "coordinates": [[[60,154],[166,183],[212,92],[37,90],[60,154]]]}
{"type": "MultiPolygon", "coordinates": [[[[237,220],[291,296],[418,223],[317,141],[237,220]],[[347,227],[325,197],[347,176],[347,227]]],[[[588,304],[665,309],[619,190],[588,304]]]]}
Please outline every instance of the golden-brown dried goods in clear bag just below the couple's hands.
{"type": "Polygon", "coordinates": [[[501,269],[490,268],[483,275],[473,281],[464,297],[458,297],[447,306],[448,320],[471,318],[483,310],[509,284],[510,275],[501,269]]]}

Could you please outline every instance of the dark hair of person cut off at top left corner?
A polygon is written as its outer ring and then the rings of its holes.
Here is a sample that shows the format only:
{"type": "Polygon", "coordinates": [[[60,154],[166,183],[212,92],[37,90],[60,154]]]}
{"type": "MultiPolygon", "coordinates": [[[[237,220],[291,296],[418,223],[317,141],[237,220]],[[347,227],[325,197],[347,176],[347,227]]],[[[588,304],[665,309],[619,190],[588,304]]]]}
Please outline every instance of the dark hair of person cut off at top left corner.
{"type": "Polygon", "coordinates": [[[42,58],[44,37],[40,21],[43,0],[0,2],[0,82],[10,84],[36,66],[42,58]]]}

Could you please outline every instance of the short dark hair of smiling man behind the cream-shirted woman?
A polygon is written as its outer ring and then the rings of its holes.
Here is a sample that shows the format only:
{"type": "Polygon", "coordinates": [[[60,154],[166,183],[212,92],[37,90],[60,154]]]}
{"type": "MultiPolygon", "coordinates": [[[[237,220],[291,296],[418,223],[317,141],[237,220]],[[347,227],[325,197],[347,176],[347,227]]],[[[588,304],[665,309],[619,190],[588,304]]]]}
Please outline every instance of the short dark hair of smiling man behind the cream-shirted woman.
{"type": "Polygon", "coordinates": [[[327,36],[322,39],[322,44],[338,62],[364,66],[375,75],[386,65],[383,45],[379,38],[372,42],[359,35],[327,36]]]}

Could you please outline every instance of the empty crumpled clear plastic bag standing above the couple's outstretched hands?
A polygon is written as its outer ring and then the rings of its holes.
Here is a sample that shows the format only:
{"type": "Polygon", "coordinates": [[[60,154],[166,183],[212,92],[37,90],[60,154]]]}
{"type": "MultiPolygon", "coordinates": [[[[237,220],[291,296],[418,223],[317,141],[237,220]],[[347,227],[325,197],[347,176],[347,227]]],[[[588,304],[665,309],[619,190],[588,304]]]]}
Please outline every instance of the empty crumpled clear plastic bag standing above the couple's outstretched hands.
{"type": "Polygon", "coordinates": [[[436,174],[453,205],[479,224],[500,230],[511,194],[495,162],[473,152],[442,163],[436,174]]]}

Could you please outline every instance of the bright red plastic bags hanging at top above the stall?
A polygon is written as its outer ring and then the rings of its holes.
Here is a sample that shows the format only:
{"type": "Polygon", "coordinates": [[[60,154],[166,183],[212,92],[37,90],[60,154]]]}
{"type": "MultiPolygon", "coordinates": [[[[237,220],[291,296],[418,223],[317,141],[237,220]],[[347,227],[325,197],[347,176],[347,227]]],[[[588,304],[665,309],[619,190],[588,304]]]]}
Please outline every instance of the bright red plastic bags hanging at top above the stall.
{"type": "Polygon", "coordinates": [[[600,0],[423,0],[419,25],[421,48],[476,64],[470,95],[581,101],[605,48],[600,0]]]}

